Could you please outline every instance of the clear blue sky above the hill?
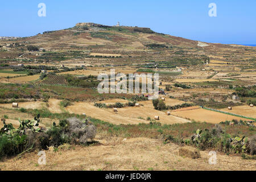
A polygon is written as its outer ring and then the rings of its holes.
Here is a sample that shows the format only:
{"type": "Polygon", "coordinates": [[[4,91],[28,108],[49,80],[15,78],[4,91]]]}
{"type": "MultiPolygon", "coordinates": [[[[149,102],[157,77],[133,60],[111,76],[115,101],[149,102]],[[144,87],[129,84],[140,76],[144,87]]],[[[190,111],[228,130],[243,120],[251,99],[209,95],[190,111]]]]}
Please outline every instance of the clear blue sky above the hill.
{"type": "Polygon", "coordinates": [[[256,0],[9,0],[0,3],[0,36],[32,36],[79,22],[150,27],[212,43],[256,44],[256,0]],[[46,17],[38,4],[46,4],[46,17]],[[216,3],[217,17],[210,17],[216,3]]]}

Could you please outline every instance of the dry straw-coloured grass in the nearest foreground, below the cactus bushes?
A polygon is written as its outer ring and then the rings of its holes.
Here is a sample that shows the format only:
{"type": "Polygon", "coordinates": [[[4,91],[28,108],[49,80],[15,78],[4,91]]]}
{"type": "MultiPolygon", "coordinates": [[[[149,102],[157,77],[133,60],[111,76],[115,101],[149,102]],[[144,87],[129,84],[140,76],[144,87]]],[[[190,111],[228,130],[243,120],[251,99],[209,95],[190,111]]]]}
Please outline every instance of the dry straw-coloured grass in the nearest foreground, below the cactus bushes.
{"type": "Polygon", "coordinates": [[[36,152],[20,158],[0,162],[1,170],[256,170],[255,160],[243,160],[240,156],[217,153],[217,164],[210,165],[209,151],[200,151],[201,158],[190,159],[177,155],[179,146],[163,144],[160,140],[148,138],[105,138],[97,135],[98,146],[60,146],[59,150],[46,151],[46,165],[38,165],[36,152]],[[62,149],[61,149],[62,148],[62,149]]]}

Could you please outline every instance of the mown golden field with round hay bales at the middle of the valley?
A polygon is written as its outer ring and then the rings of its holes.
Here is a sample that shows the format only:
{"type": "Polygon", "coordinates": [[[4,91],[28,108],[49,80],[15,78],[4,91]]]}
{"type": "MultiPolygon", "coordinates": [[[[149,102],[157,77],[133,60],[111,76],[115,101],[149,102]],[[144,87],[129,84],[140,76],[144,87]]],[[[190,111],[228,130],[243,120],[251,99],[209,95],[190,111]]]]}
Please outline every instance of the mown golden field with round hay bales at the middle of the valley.
{"type": "MultiPolygon", "coordinates": [[[[140,104],[144,103],[139,102],[140,104]]],[[[106,102],[108,103],[108,101],[106,102]]],[[[144,104],[143,104],[144,105],[144,104]]],[[[187,119],[178,118],[172,115],[166,115],[163,111],[158,111],[152,108],[152,101],[148,105],[139,107],[123,107],[118,108],[117,112],[113,109],[100,109],[93,106],[93,103],[88,102],[75,102],[74,105],[66,107],[69,113],[76,114],[88,114],[90,117],[101,119],[102,121],[114,123],[114,124],[138,124],[149,123],[147,117],[154,119],[155,115],[159,115],[159,122],[171,124],[171,123],[184,123],[190,122],[187,119]]]]}

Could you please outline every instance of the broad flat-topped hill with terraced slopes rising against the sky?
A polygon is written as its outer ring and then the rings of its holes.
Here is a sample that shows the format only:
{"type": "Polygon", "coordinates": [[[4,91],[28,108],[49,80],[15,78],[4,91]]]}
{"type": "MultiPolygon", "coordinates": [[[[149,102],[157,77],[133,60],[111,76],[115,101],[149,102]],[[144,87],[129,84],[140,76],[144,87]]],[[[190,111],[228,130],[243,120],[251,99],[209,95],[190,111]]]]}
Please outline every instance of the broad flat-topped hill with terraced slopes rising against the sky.
{"type": "Polygon", "coordinates": [[[158,33],[146,27],[106,26],[97,23],[77,23],[64,30],[44,31],[42,34],[15,40],[0,40],[0,45],[7,50],[0,52],[0,59],[22,57],[42,62],[72,59],[87,63],[93,61],[92,57],[97,57],[102,58],[105,64],[160,62],[163,68],[166,64],[170,67],[200,66],[207,63],[206,60],[209,63],[210,59],[228,61],[230,64],[243,60],[253,62],[256,50],[255,47],[189,40],[158,33]],[[42,53],[28,53],[28,46],[35,46],[42,53]],[[118,59],[106,59],[113,56],[118,59]]]}

